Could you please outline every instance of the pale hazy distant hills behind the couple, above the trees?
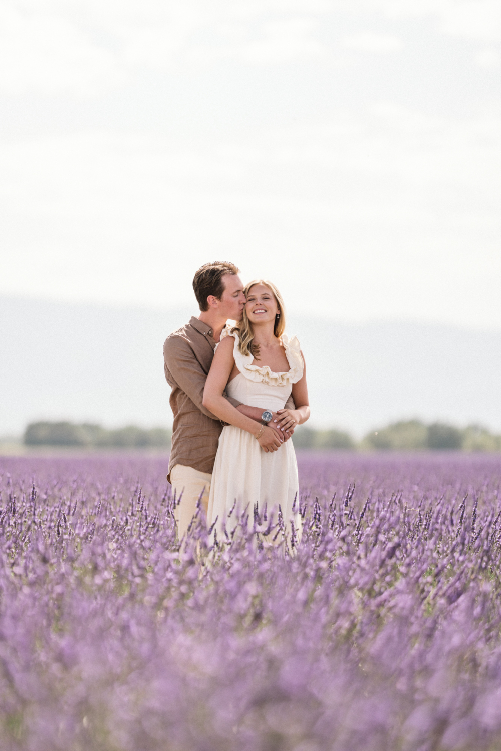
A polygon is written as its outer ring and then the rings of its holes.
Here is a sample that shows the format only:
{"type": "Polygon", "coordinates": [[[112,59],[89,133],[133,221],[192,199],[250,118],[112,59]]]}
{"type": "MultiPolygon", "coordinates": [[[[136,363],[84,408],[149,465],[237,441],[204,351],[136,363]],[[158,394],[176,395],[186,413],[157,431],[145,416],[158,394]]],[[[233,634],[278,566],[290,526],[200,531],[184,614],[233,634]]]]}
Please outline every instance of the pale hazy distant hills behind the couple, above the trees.
{"type": "MultiPolygon", "coordinates": [[[[0,297],[0,435],[39,420],[171,425],[162,345],[194,312],[0,297]]],[[[501,331],[306,315],[287,329],[306,357],[315,427],[361,436],[417,417],[501,431],[501,331]]]]}

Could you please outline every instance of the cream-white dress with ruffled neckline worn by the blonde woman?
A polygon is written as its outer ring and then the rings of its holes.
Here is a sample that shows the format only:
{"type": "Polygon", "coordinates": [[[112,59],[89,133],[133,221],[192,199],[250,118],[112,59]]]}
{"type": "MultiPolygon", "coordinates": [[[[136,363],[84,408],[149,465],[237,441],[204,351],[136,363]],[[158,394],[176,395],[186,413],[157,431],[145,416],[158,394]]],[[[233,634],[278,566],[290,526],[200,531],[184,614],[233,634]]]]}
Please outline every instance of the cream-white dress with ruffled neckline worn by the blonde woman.
{"type": "MultiPolygon", "coordinates": [[[[300,345],[294,336],[288,339],[282,335],[290,369],[275,373],[269,366],[252,365],[252,354],[244,356],[238,348],[238,333],[231,333],[227,324],[221,340],[233,336],[234,359],[239,369],[238,375],[226,386],[229,397],[243,404],[270,409],[282,409],[291,395],[292,384],[303,376],[303,357],[300,345]]],[[[236,524],[240,514],[247,508],[249,524],[252,526],[255,504],[264,526],[280,523],[282,531],[291,541],[291,522],[294,523],[296,540],[301,535],[299,513],[299,484],[297,462],[292,439],[282,444],[277,451],[264,451],[252,433],[247,433],[234,425],[226,425],[219,436],[219,445],[210,483],[207,522],[214,525],[218,538],[224,539],[227,532],[236,524]],[[231,509],[234,507],[234,511],[231,509]],[[231,512],[231,516],[228,514],[231,512]]],[[[275,537],[278,527],[271,532],[275,537]]],[[[282,541],[279,534],[276,541],[282,541]]]]}

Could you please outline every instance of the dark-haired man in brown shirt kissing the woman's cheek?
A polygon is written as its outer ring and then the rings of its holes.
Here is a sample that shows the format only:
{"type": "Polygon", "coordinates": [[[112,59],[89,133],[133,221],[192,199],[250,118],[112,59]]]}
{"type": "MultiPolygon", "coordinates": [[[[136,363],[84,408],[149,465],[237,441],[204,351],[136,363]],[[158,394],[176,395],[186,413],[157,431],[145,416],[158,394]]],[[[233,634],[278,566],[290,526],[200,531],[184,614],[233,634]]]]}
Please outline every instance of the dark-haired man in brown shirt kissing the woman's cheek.
{"type": "MultiPolygon", "coordinates": [[[[167,337],[164,343],[165,378],[171,386],[174,412],[172,450],[167,479],[181,502],[175,510],[179,538],[183,538],[195,514],[198,499],[207,513],[210,480],[223,424],[204,407],[204,385],[214,348],[226,321],[240,321],[246,298],[239,270],[228,261],[204,264],[193,279],[200,308],[198,317],[167,337]]],[[[294,431],[282,431],[280,415],[241,404],[226,397],[247,417],[269,424],[258,441],[264,451],[276,451],[294,431]],[[264,414],[267,412],[267,414],[264,414]],[[271,418],[270,415],[271,414],[271,418]],[[265,418],[265,419],[264,419],[265,418]]],[[[286,406],[294,406],[292,400],[286,406]]]]}

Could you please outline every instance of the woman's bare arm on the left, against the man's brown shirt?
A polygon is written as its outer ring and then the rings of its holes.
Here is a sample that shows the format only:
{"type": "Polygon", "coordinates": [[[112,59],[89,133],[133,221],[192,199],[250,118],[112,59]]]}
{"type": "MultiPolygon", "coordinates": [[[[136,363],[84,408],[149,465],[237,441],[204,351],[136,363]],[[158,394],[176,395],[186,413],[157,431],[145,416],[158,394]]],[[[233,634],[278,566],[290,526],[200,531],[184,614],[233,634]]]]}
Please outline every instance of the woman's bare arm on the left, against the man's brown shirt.
{"type": "Polygon", "coordinates": [[[258,442],[261,448],[264,448],[264,451],[276,451],[283,442],[276,431],[271,427],[260,425],[255,420],[252,420],[252,418],[243,415],[222,395],[235,364],[233,348],[234,338],[228,336],[220,342],[219,347],[216,349],[213,363],[210,366],[209,375],[207,375],[207,381],[205,382],[202,403],[206,409],[210,409],[210,412],[213,412],[213,415],[217,415],[220,420],[240,427],[242,430],[246,430],[247,433],[252,433],[256,438],[259,436],[258,442]]]}

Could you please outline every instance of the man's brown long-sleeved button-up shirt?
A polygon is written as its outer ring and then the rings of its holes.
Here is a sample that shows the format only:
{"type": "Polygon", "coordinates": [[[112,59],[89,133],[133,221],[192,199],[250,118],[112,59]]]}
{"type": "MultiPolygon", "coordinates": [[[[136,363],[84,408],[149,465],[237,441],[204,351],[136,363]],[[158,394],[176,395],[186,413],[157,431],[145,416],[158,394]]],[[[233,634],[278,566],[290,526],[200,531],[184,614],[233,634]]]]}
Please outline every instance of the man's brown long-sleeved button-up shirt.
{"type": "MultiPolygon", "coordinates": [[[[223,423],[204,407],[202,398],[215,347],[213,330],[195,316],[165,339],[164,371],[174,412],[169,480],[176,464],[213,471],[223,423]]],[[[226,398],[234,407],[241,404],[226,398]]]]}

